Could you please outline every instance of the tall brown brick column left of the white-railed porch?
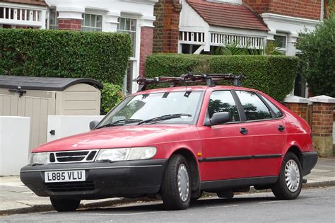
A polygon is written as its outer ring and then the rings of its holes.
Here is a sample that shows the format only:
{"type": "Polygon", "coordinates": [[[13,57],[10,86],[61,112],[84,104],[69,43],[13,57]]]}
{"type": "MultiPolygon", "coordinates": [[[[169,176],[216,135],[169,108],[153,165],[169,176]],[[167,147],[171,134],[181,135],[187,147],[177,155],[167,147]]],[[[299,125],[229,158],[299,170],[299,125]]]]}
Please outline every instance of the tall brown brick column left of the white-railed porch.
{"type": "Polygon", "coordinates": [[[153,52],[177,52],[179,20],[182,10],[179,0],[159,0],[154,7],[156,21],[153,34],[153,52]]]}

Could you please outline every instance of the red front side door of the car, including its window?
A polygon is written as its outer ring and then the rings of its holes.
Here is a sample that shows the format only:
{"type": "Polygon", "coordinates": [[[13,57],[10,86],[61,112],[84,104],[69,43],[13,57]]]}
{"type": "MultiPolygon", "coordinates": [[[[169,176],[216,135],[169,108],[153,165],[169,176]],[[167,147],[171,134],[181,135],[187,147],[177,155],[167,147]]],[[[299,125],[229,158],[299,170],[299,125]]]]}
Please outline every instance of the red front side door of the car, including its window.
{"type": "Polygon", "coordinates": [[[213,113],[229,112],[231,121],[223,125],[199,126],[202,157],[199,159],[201,181],[249,177],[251,147],[242,135],[244,125],[231,91],[213,91],[209,96],[207,118],[213,113]]]}

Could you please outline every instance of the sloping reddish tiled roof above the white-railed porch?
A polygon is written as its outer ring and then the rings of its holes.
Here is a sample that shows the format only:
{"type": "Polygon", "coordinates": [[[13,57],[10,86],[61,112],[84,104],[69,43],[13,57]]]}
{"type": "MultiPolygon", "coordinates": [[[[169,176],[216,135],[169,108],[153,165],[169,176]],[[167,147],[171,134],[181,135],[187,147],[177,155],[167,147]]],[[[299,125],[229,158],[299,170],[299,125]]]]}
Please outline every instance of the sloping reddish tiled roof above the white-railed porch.
{"type": "Polygon", "coordinates": [[[266,25],[245,5],[223,4],[204,0],[186,0],[209,25],[250,30],[268,30],[266,25]]]}

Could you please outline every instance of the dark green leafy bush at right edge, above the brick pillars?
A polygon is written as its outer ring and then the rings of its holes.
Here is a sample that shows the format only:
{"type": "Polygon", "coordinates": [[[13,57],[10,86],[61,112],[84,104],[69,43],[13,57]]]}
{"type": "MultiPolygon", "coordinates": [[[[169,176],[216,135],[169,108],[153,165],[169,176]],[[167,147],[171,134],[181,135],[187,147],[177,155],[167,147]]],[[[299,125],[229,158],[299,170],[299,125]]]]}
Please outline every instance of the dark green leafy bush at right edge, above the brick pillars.
{"type": "Polygon", "coordinates": [[[300,65],[307,85],[315,95],[335,97],[335,14],[319,23],[312,33],[301,35],[300,65]]]}

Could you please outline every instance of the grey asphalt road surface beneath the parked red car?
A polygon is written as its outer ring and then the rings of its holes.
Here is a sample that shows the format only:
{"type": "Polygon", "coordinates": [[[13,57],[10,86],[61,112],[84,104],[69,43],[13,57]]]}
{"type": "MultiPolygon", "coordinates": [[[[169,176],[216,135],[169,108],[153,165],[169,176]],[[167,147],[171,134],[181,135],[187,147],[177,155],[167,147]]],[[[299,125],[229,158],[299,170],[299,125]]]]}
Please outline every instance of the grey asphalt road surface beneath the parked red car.
{"type": "Polygon", "coordinates": [[[76,212],[0,217],[0,222],[335,222],[335,187],[302,190],[296,200],[272,193],[201,199],[187,210],[165,211],[162,202],[76,212]]]}

